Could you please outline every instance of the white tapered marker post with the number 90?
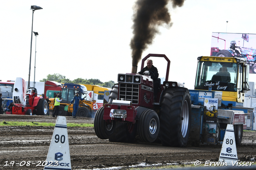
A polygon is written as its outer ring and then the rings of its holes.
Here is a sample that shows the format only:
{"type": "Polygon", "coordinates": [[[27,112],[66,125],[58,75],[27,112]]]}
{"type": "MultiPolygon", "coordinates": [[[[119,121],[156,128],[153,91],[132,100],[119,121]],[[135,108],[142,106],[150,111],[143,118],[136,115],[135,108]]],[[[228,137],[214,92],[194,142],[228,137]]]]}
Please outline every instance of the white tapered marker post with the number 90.
{"type": "Polygon", "coordinates": [[[58,116],[44,170],[71,170],[68,129],[65,116],[58,116]]]}

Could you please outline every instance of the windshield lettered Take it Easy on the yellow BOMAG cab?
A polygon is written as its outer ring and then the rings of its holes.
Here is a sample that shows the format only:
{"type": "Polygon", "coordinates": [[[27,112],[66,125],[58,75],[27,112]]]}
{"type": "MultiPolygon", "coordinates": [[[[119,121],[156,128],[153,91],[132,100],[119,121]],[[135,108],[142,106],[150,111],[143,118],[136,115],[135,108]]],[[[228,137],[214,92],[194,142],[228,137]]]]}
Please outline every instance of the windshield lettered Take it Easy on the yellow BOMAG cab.
{"type": "Polygon", "coordinates": [[[238,67],[239,64],[231,62],[199,61],[195,89],[208,90],[211,86],[214,91],[236,92],[240,82],[238,70],[241,70],[238,67]]]}

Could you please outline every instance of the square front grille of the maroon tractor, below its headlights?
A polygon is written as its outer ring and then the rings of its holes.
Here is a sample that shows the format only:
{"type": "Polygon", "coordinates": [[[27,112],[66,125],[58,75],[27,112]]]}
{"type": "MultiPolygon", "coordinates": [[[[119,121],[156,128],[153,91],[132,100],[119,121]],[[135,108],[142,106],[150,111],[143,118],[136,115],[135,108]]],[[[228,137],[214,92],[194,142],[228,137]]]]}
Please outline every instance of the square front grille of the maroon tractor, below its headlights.
{"type": "Polygon", "coordinates": [[[119,87],[119,100],[131,101],[132,104],[139,104],[139,84],[122,84],[119,87]]]}

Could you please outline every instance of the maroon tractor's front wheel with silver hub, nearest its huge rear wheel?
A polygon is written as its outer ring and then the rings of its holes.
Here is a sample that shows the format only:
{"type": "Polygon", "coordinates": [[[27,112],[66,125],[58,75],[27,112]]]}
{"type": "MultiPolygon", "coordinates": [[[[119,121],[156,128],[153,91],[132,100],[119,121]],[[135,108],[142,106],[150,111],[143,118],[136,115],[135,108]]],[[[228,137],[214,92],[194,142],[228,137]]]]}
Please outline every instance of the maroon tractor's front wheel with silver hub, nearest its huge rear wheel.
{"type": "Polygon", "coordinates": [[[138,135],[143,142],[154,142],[160,129],[159,118],[156,111],[147,109],[140,115],[138,135]]]}

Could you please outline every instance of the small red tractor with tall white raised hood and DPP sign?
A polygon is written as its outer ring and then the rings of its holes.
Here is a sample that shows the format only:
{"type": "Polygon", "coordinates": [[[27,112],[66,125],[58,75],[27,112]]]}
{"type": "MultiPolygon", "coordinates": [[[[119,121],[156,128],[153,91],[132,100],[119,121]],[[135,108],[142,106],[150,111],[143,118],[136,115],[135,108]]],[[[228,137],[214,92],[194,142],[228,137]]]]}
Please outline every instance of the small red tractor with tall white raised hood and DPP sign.
{"type": "Polygon", "coordinates": [[[12,100],[18,107],[11,107],[11,114],[47,115],[48,104],[42,96],[37,96],[36,88],[26,90],[26,81],[17,77],[14,83],[12,100]]]}

